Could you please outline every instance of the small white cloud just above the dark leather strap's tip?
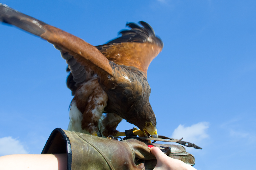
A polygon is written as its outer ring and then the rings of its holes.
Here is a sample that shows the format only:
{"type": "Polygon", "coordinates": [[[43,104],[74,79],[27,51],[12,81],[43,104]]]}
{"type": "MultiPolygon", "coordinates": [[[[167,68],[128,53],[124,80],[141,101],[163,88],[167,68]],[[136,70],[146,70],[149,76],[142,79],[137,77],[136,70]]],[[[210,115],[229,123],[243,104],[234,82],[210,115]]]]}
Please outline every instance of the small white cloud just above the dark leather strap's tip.
{"type": "Polygon", "coordinates": [[[180,139],[183,137],[183,141],[200,144],[203,139],[209,137],[206,133],[208,128],[209,122],[199,122],[187,127],[180,124],[178,128],[173,131],[172,138],[180,139]]]}

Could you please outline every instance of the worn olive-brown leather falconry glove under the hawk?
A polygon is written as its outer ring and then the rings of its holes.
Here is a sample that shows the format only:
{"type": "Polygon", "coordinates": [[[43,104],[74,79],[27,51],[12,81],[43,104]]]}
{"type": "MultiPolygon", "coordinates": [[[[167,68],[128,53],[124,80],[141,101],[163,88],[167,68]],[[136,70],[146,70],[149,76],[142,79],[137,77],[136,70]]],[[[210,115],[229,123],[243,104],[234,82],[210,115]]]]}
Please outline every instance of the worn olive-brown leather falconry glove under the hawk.
{"type": "MultiPolygon", "coordinates": [[[[146,141],[132,137],[123,141],[96,137],[79,132],[54,129],[47,140],[42,154],[67,154],[67,169],[153,169],[155,156],[148,149],[146,141]]],[[[165,154],[194,165],[194,156],[183,146],[153,144],[165,154]]]]}

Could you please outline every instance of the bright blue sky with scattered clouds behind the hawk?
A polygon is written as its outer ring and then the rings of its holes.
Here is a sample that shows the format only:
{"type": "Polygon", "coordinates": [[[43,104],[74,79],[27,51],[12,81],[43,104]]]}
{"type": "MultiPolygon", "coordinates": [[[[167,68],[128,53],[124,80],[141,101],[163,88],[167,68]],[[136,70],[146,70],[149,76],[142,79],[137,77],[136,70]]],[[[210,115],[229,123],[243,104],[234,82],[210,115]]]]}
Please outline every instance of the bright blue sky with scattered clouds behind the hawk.
{"type": "MultiPolygon", "coordinates": [[[[148,69],[159,135],[187,148],[195,168],[249,169],[256,152],[255,1],[12,1],[1,3],[92,45],[126,22],[148,22],[164,42],[148,69]]],[[[67,129],[72,100],[66,63],[53,45],[0,24],[0,156],[39,154],[51,131],[67,129]]],[[[122,121],[119,130],[133,125],[122,121]]]]}

